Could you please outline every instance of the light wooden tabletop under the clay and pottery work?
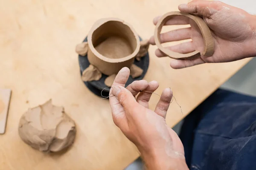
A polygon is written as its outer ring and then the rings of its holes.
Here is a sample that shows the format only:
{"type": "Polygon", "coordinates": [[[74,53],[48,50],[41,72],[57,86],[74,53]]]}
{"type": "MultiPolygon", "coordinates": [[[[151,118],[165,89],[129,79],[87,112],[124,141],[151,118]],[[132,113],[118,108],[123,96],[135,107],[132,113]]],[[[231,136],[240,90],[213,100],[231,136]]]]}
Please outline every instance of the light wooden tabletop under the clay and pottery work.
{"type": "MultiPolygon", "coordinates": [[[[114,125],[108,100],[81,81],[75,46],[102,17],[119,17],[141,37],[154,33],[152,19],[187,0],[0,0],[0,88],[11,88],[6,134],[0,136],[1,170],[120,170],[139,153],[114,125]],[[76,141],[63,155],[47,155],[23,143],[20,116],[52,98],[77,125],[76,141]]],[[[177,28],[177,26],[175,26],[177,28]]],[[[174,126],[250,59],[174,70],[151,46],[145,79],[171,87],[175,102],[166,121],[174,126]]],[[[159,96],[153,95],[150,108],[159,96]]]]}

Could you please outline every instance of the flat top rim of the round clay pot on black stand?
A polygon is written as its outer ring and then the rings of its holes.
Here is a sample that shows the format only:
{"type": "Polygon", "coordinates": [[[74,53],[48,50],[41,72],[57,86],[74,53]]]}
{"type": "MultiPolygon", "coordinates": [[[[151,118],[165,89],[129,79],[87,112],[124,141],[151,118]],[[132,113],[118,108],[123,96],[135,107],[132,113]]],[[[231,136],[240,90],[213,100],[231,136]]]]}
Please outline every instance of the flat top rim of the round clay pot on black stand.
{"type": "Polygon", "coordinates": [[[124,20],[121,20],[119,18],[102,18],[98,21],[96,21],[96,23],[92,26],[92,28],[90,29],[88,35],[87,35],[87,41],[88,41],[88,46],[90,48],[90,50],[93,52],[93,54],[98,57],[99,59],[102,59],[103,61],[105,62],[111,62],[111,63],[116,63],[116,62],[124,62],[124,61],[127,61],[129,59],[132,59],[134,58],[139,50],[140,50],[140,39],[139,39],[139,36],[137,34],[137,32],[135,31],[135,29],[129,24],[129,23],[126,23],[124,20]],[[137,42],[137,46],[134,50],[134,52],[126,57],[122,57],[122,58],[119,58],[119,59],[111,59],[111,58],[108,58],[108,57],[105,57],[103,56],[102,54],[100,54],[93,46],[93,42],[92,42],[92,35],[93,35],[93,32],[99,28],[100,26],[102,26],[103,24],[109,22],[109,21],[118,21],[118,22],[121,22],[123,24],[125,24],[126,26],[128,26],[132,33],[134,34],[134,38],[136,39],[136,42],[137,42]]]}

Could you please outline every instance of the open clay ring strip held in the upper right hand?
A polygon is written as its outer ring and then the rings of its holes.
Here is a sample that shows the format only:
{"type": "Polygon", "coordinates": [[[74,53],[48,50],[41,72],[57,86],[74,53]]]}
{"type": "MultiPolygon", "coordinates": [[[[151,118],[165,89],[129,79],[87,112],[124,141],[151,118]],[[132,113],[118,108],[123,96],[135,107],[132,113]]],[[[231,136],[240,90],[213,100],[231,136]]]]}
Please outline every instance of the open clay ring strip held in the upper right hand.
{"type": "Polygon", "coordinates": [[[195,23],[200,28],[200,31],[204,38],[204,51],[202,55],[206,57],[212,56],[212,54],[214,53],[214,41],[212,39],[212,34],[207,24],[204,22],[204,20],[201,17],[195,16],[192,14],[183,13],[180,11],[173,11],[173,12],[164,14],[158,21],[154,31],[154,40],[156,42],[157,47],[160,49],[160,51],[162,51],[164,54],[174,59],[186,59],[186,58],[194,58],[194,57],[201,56],[199,51],[194,51],[188,54],[180,54],[180,53],[171,51],[167,48],[163,48],[163,46],[161,45],[160,32],[162,30],[162,27],[168,20],[170,20],[172,17],[175,17],[177,15],[186,16],[195,21],[195,23]]]}

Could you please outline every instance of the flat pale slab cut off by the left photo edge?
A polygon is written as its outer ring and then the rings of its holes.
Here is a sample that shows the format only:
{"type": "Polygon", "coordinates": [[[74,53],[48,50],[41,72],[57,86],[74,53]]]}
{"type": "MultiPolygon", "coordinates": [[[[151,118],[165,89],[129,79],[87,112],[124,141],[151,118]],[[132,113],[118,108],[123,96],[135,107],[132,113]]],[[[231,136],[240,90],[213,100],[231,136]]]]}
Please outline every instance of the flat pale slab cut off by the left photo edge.
{"type": "Polygon", "coordinates": [[[0,89],[0,134],[4,134],[6,130],[11,92],[11,89],[0,89]]]}

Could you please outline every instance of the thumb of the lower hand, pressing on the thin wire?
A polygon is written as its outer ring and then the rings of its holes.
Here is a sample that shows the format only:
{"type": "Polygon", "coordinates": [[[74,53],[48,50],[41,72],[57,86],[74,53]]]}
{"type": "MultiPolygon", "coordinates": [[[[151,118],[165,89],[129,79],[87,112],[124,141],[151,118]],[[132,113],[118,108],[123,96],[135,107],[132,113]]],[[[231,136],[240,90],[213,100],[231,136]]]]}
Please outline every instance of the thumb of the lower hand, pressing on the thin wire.
{"type": "Polygon", "coordinates": [[[130,110],[137,104],[134,96],[126,88],[118,85],[112,90],[112,94],[115,95],[119,103],[124,107],[125,111],[130,110]]]}

